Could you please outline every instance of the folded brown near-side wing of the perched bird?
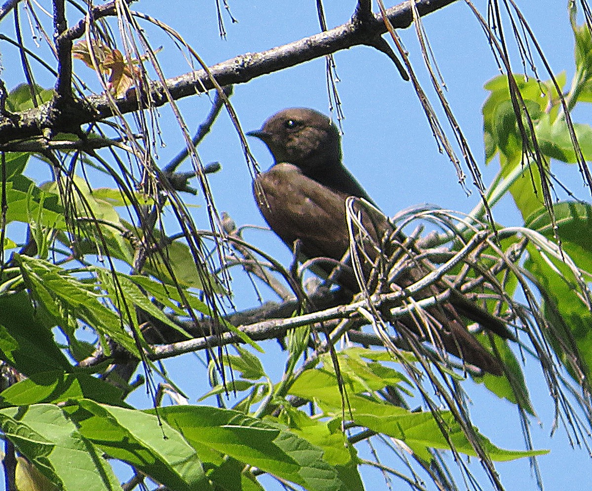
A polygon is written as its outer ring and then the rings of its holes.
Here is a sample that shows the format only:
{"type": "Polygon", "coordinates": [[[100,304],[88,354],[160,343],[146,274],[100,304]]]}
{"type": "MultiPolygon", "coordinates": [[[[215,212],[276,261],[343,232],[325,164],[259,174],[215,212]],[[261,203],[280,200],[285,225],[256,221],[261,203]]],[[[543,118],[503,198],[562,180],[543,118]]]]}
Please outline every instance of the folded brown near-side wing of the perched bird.
{"type": "MultiPolygon", "coordinates": [[[[276,164],[266,173],[259,174],[253,185],[253,192],[263,217],[289,247],[300,239],[301,252],[308,258],[329,257],[337,261],[348,250],[345,194],[339,194],[317,183],[292,164],[276,164]]],[[[361,213],[365,225],[376,222],[369,213],[364,210],[361,213]]],[[[373,239],[376,240],[381,235],[379,232],[388,230],[387,226],[386,220],[379,220],[375,224],[373,239]]],[[[367,249],[366,252],[370,250],[367,249]]],[[[374,260],[372,255],[370,257],[374,260]]],[[[395,281],[400,287],[406,288],[422,277],[423,273],[419,268],[411,267],[395,281]]],[[[350,274],[343,275],[338,281],[352,291],[359,290],[355,277],[350,274]]],[[[432,285],[418,292],[416,299],[437,295],[439,292],[440,287],[432,285]]],[[[436,337],[439,340],[436,344],[441,343],[446,351],[490,373],[503,373],[498,360],[466,330],[451,303],[435,305],[428,311],[436,327],[435,334],[427,336],[428,339],[436,337]]],[[[413,316],[400,318],[395,324],[406,326],[416,334],[426,337],[426,329],[413,316]]]]}

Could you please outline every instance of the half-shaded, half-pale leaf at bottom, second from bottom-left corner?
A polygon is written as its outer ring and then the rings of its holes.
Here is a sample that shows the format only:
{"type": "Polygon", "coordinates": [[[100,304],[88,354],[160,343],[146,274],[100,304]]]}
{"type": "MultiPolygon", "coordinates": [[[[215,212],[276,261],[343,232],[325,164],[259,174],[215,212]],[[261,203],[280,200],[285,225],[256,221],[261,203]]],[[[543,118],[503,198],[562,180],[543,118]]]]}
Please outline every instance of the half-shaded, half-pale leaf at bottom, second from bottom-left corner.
{"type": "Polygon", "coordinates": [[[126,461],[170,489],[212,489],[197,453],[178,429],[137,409],[89,400],[79,404],[92,414],[78,421],[81,434],[111,457],[126,461]]]}

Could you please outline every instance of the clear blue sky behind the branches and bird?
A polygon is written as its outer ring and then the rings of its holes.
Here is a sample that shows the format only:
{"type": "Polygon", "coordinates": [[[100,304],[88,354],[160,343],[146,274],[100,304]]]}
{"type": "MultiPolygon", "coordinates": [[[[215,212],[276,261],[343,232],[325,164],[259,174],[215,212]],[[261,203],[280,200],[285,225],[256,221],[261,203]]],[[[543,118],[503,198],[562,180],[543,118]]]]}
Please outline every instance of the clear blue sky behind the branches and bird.
{"type": "MultiPolygon", "coordinates": [[[[232,24],[225,16],[226,40],[220,40],[218,37],[213,0],[144,0],[133,4],[132,7],[153,15],[175,28],[208,64],[218,63],[247,51],[256,52],[289,43],[318,31],[316,7],[312,0],[235,0],[229,3],[232,14],[239,22],[232,24]]],[[[475,3],[485,15],[486,2],[481,0],[475,3]]],[[[569,80],[574,70],[574,62],[567,0],[517,0],[517,3],[529,20],[552,70],[555,73],[566,70],[569,80]]],[[[326,1],[324,6],[327,25],[333,27],[349,19],[355,2],[326,1]]],[[[476,160],[482,164],[484,152],[481,105],[487,96],[482,86],[498,74],[494,58],[488,50],[481,28],[464,2],[456,2],[423,20],[449,89],[448,100],[461,123],[476,160]]],[[[2,30],[8,29],[8,24],[5,20],[1,25],[2,30]]],[[[152,27],[144,27],[153,46],[161,43],[164,45],[164,51],[160,53],[159,58],[163,63],[165,75],[175,76],[188,71],[184,58],[175,47],[164,38],[161,39],[152,27]]],[[[423,69],[413,28],[400,34],[411,53],[411,61],[424,89],[429,89],[430,83],[423,69]]],[[[344,161],[384,212],[394,214],[400,209],[419,203],[435,203],[442,207],[469,212],[477,204],[477,194],[467,197],[458,185],[451,162],[437,151],[413,87],[400,79],[391,61],[384,54],[368,47],[342,51],[335,55],[335,60],[340,77],[337,88],[346,116],[343,121],[344,161]]],[[[2,63],[5,67],[2,75],[8,79],[9,85],[12,81],[16,84],[22,76],[18,72],[9,73],[9,69],[11,63],[17,63],[13,65],[15,67],[20,66],[20,63],[8,54],[8,50],[2,63]]],[[[75,62],[75,68],[80,76],[92,77],[92,72],[82,66],[82,63],[75,62]]],[[[517,57],[514,58],[514,70],[522,71],[517,57]]],[[[543,79],[548,78],[542,70],[542,65],[539,73],[543,79]]],[[[436,106],[433,92],[427,92],[436,106]]],[[[325,61],[314,60],[236,86],[232,102],[245,131],[259,128],[272,113],[289,106],[308,106],[327,112],[329,102],[325,61]]],[[[206,96],[190,97],[179,101],[179,106],[189,128],[194,130],[207,114],[210,101],[206,96]]],[[[166,147],[159,149],[159,159],[161,164],[165,165],[169,158],[182,148],[182,137],[174,127],[170,110],[161,108],[159,112],[162,116],[163,139],[166,144],[166,147]]],[[[580,122],[590,121],[589,113],[581,112],[578,116],[580,122]]],[[[271,157],[263,144],[253,141],[251,149],[263,169],[271,165],[271,157]]],[[[220,117],[198,151],[204,163],[220,161],[223,165],[220,173],[210,177],[218,209],[229,212],[239,225],[263,225],[263,220],[253,203],[249,171],[244,163],[239,139],[226,114],[220,117]]],[[[189,168],[188,162],[184,165],[184,168],[189,168]]],[[[490,168],[485,168],[482,164],[481,170],[487,184],[497,171],[496,164],[494,162],[490,168]]],[[[556,171],[561,173],[564,169],[556,168],[556,171]]],[[[565,178],[571,183],[572,190],[578,196],[586,197],[577,170],[570,168],[568,172],[571,176],[565,178]]],[[[470,186],[470,180],[467,182],[470,186]]],[[[195,204],[203,203],[200,197],[191,198],[189,201],[195,204]]],[[[206,226],[204,207],[195,209],[194,216],[198,225],[206,226]]],[[[502,203],[494,210],[494,216],[504,225],[520,225],[519,217],[509,203],[502,203]]],[[[253,240],[285,263],[289,261],[290,254],[287,249],[271,233],[252,232],[247,234],[246,238],[253,240]]],[[[248,282],[240,279],[240,276],[239,272],[235,275],[237,284],[241,285],[235,290],[236,303],[241,308],[252,307],[256,305],[255,294],[249,289],[248,282]]],[[[267,295],[268,298],[273,298],[271,294],[267,295]]],[[[273,343],[267,344],[266,348],[268,347],[271,352],[274,351],[273,343]]],[[[284,365],[283,356],[282,353],[277,353],[268,358],[266,366],[269,367],[270,373],[278,373],[277,367],[284,365]]],[[[173,380],[180,382],[182,388],[191,396],[191,402],[195,402],[195,399],[207,390],[204,386],[204,370],[193,355],[170,360],[166,365],[173,380]],[[188,374],[188,363],[191,363],[191,375],[188,374]]],[[[592,484],[592,460],[585,450],[571,449],[561,428],[554,438],[549,438],[553,416],[552,401],[536,362],[528,361],[526,373],[530,395],[540,420],[540,427],[538,420],[531,421],[534,446],[552,450],[550,456],[539,458],[546,489],[587,489],[592,484]]],[[[471,390],[470,395],[473,402],[472,415],[482,433],[500,447],[523,448],[516,409],[477,386],[474,391],[471,390]]],[[[141,392],[134,395],[133,401],[141,407],[150,405],[141,392]]],[[[451,466],[453,465],[451,463],[451,466]]],[[[536,489],[528,461],[498,464],[497,467],[506,489],[536,489]]],[[[473,461],[472,468],[479,473],[480,466],[476,460],[473,461]]],[[[382,489],[384,482],[378,473],[366,475],[369,489],[375,486],[382,489]]],[[[487,480],[482,479],[482,483],[484,489],[488,489],[487,480]]],[[[274,486],[269,486],[269,489],[279,489],[279,485],[274,486]]],[[[401,484],[395,481],[394,489],[400,488],[401,484]]]]}

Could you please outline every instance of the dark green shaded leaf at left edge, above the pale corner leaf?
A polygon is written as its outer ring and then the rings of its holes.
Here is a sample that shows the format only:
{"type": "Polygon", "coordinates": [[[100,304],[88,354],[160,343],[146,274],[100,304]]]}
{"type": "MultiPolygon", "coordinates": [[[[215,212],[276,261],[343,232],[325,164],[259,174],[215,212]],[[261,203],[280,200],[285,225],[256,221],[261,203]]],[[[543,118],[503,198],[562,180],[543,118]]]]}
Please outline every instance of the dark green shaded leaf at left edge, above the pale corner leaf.
{"type": "Polygon", "coordinates": [[[24,375],[59,370],[71,372],[72,365],[40,322],[25,292],[0,295],[0,358],[24,375]]]}

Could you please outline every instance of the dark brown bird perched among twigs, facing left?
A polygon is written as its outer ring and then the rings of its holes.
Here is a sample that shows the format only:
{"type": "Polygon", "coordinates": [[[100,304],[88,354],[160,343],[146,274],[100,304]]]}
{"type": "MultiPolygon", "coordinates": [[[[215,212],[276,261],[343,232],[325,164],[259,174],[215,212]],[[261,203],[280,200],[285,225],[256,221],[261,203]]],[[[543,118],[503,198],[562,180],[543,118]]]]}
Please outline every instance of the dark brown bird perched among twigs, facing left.
{"type": "MultiPolygon", "coordinates": [[[[300,251],[308,258],[332,258],[340,261],[350,246],[346,219],[346,199],[349,196],[372,200],[342,164],[339,130],[327,116],[313,109],[285,109],[269,118],[258,131],[247,133],[256,136],[268,146],[274,156],[274,165],[260,173],[253,183],[253,193],[260,212],[272,230],[288,247],[300,240],[300,251]]],[[[380,243],[392,226],[384,217],[378,218],[358,208],[362,222],[375,242],[380,243]]],[[[396,242],[404,240],[396,236],[396,242]]],[[[365,248],[369,259],[375,261],[374,248],[365,248]]],[[[366,275],[371,271],[366,261],[366,275]]],[[[334,265],[320,265],[329,274],[334,265]]],[[[347,270],[346,270],[347,271],[347,270]]],[[[404,274],[395,278],[399,287],[406,288],[423,278],[428,271],[418,265],[410,266],[404,274]]],[[[353,292],[359,291],[353,270],[337,277],[337,282],[353,292]]],[[[416,295],[416,300],[446,290],[440,287],[426,288],[416,295]]],[[[503,321],[477,304],[452,292],[451,301],[427,309],[439,329],[437,339],[452,355],[461,357],[482,370],[503,375],[500,361],[485,349],[466,329],[458,312],[474,320],[487,330],[506,339],[514,339],[503,321]]],[[[426,329],[416,319],[399,318],[395,323],[407,327],[424,337],[426,329]],[[402,324],[401,324],[402,323],[402,324]]]]}

